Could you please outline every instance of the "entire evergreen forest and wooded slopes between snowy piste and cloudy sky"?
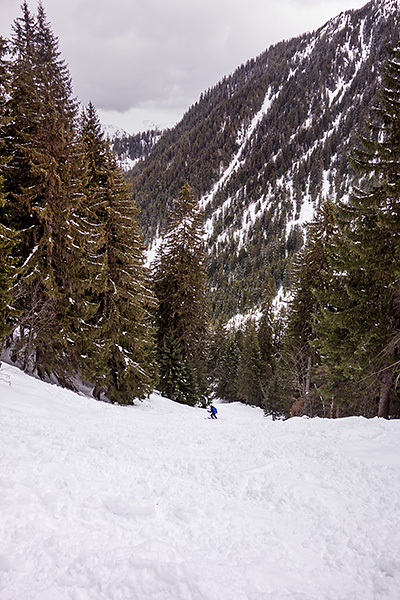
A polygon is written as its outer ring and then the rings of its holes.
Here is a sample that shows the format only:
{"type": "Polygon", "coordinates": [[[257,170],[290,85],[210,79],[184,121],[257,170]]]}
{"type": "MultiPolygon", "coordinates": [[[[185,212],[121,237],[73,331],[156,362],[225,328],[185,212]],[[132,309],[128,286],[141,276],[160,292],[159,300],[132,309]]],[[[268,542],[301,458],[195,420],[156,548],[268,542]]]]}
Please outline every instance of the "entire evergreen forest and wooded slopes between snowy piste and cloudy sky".
{"type": "Polygon", "coordinates": [[[119,404],[399,418],[397,11],[342,14],[111,143],[24,1],[0,38],[3,360],[119,404]]]}

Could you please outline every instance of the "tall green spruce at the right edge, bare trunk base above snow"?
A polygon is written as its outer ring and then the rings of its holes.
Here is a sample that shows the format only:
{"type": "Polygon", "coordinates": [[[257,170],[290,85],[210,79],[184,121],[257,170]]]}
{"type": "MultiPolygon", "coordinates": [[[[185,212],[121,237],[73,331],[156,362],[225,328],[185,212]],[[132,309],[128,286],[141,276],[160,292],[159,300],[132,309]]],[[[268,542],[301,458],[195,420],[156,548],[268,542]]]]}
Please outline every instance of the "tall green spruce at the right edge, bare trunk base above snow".
{"type": "Polygon", "coordinates": [[[341,208],[331,258],[335,305],[322,312],[318,333],[321,354],[340,366],[359,394],[368,390],[375,414],[388,417],[400,343],[399,46],[389,51],[368,131],[352,157],[364,183],[341,208]]]}

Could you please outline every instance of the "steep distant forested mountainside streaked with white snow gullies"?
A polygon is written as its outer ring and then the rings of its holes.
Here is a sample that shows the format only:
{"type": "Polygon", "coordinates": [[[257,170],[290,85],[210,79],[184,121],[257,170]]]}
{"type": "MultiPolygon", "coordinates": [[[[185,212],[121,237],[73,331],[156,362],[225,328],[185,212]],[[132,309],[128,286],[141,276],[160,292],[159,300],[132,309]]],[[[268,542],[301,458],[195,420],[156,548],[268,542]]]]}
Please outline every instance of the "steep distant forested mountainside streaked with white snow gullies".
{"type": "Polygon", "coordinates": [[[130,171],[149,245],[171,199],[192,186],[205,212],[215,317],[256,306],[266,286],[287,286],[301,224],[323,198],[348,194],[348,153],[398,24],[396,0],[372,0],[271,46],[203,93],[130,171]]]}

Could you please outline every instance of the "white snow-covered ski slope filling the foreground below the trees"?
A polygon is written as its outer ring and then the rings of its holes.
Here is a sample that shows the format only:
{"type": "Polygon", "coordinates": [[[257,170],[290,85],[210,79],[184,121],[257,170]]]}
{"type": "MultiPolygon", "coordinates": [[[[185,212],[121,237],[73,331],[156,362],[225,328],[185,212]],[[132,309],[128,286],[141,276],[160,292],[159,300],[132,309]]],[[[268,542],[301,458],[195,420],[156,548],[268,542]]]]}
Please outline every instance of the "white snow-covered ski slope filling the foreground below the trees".
{"type": "Polygon", "coordinates": [[[1,600],[399,600],[400,421],[218,408],[3,364],[1,600]]]}

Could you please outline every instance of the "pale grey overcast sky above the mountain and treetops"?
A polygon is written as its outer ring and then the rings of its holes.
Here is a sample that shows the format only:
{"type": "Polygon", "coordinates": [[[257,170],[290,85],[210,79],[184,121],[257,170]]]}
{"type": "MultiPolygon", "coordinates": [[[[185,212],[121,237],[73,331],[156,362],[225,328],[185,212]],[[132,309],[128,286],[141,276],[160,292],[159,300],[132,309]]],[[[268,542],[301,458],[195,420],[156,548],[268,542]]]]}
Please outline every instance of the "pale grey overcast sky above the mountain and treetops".
{"type": "MultiPolygon", "coordinates": [[[[74,92],[104,124],[172,127],[224,75],[271,44],[367,0],[43,0],[74,92]]],[[[8,37],[22,0],[0,0],[8,37]]],[[[28,5],[36,13],[36,0],[28,5]]]]}

